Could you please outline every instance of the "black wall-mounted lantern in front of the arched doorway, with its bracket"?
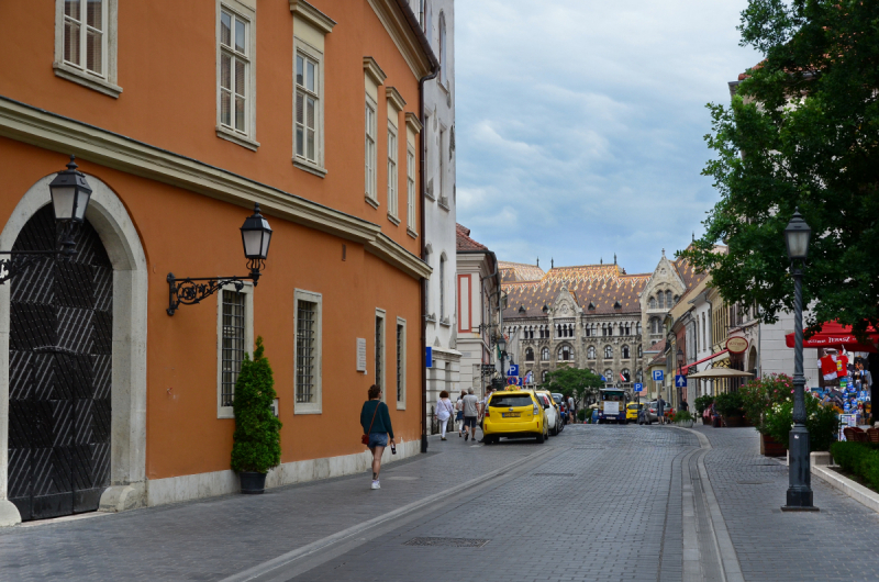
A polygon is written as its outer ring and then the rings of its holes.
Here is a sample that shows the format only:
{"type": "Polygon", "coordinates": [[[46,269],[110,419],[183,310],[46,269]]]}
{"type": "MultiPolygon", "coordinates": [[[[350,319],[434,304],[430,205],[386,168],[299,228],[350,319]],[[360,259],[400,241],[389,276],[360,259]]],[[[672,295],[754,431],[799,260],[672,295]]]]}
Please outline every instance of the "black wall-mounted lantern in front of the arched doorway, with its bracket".
{"type": "Polygon", "coordinates": [[[74,247],[74,228],[86,220],[86,210],[91,200],[91,187],[86,176],[77,170],[75,156],[70,156],[67,169],[59,171],[48,184],[52,210],[55,223],[60,226],[56,238],[56,247],[52,250],[0,250],[0,255],[11,257],[25,256],[25,260],[12,262],[0,259],[0,284],[27,268],[38,256],[69,257],[76,254],[74,247]]]}

